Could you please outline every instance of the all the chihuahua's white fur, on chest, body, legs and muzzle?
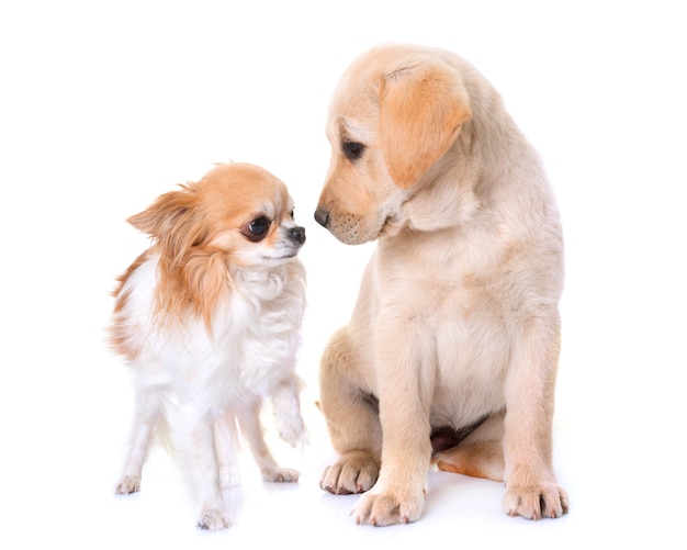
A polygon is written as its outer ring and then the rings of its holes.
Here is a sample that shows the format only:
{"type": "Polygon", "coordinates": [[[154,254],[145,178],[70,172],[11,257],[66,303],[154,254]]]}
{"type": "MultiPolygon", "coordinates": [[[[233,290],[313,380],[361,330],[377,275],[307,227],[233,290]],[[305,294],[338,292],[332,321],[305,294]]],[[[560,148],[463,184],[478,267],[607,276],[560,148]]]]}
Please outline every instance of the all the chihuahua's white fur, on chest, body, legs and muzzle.
{"type": "MultiPolygon", "coordinates": [[[[281,225],[295,226],[292,220],[281,225]]],[[[280,237],[274,248],[283,249],[285,239],[280,237]]],[[[295,255],[297,246],[292,248],[295,255]]],[[[198,526],[222,529],[230,520],[223,474],[232,473],[237,429],[264,480],[299,478],[296,471],[280,468],[267,448],[260,412],[263,400],[270,399],[283,439],[304,444],[295,362],[305,269],[295,258],[266,258],[248,267],[227,260],[230,282],[215,304],[209,329],[191,312],[181,321],[161,318],[165,313],[156,310],[160,254],[151,248],[143,258],[122,277],[115,293],[113,327],[125,340],[119,351],[126,356],[126,350],[135,350],[127,356],[135,413],[115,492],[139,490],[147,452],[158,436],[170,444],[188,478],[200,506],[198,526]]]]}

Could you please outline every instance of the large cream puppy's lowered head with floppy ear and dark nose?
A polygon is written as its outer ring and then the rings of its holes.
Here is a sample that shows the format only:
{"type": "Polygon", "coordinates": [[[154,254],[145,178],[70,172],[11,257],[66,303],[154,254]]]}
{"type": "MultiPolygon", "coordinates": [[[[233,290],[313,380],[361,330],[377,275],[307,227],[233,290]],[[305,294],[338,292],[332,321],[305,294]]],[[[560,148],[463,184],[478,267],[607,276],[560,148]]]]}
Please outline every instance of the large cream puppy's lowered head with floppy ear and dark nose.
{"type": "Polygon", "coordinates": [[[463,82],[436,56],[396,45],[358,57],[329,106],[317,222],[351,245],[394,234],[407,198],[470,117],[463,82]]]}

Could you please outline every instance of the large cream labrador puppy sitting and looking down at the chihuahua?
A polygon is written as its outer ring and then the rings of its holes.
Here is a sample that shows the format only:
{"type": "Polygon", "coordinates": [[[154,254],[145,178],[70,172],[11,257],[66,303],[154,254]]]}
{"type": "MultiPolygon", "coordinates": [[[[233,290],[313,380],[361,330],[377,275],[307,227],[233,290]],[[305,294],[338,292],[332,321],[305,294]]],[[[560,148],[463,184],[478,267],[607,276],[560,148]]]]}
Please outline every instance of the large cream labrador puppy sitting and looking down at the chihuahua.
{"type": "Polygon", "coordinates": [[[384,45],[334,93],[315,218],[378,240],[350,324],[320,364],[358,523],[421,515],[427,471],[503,480],[504,508],[567,510],[552,468],[563,240],[541,162],[496,90],[442,49],[384,45]]]}

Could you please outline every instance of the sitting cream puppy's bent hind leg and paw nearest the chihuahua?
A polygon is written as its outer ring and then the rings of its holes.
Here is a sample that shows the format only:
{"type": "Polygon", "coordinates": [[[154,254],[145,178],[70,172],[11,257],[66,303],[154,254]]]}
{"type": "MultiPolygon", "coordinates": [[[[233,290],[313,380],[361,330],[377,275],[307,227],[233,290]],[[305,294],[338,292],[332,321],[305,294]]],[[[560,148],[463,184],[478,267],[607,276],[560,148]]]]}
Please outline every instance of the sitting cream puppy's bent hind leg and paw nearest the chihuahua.
{"type": "Polygon", "coordinates": [[[324,491],[334,494],[362,493],[370,490],[380,473],[382,425],[379,403],[356,380],[347,329],[334,334],[319,370],[319,409],[325,415],[329,437],[338,460],[325,468],[319,480],[324,491]]]}

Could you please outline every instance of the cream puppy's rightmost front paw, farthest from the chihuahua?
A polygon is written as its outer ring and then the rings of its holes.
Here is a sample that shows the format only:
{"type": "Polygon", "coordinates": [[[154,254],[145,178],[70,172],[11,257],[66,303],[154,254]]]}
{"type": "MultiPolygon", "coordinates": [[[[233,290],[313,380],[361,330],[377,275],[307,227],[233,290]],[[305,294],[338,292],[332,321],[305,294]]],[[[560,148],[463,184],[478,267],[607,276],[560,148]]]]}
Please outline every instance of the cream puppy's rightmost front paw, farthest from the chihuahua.
{"type": "Polygon", "coordinates": [[[527,519],[561,517],[567,513],[567,493],[555,483],[532,486],[511,485],[504,495],[504,510],[527,519]]]}

